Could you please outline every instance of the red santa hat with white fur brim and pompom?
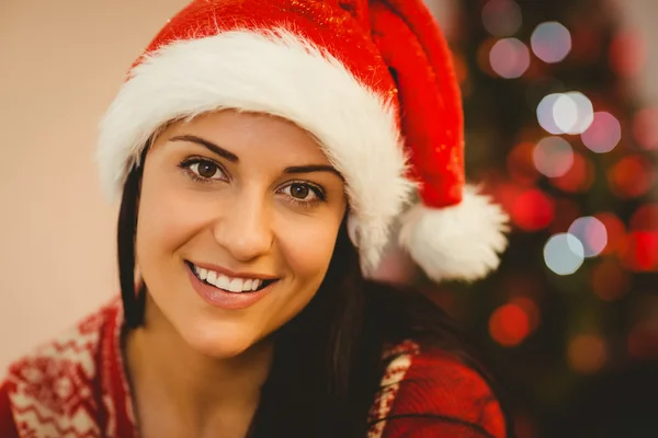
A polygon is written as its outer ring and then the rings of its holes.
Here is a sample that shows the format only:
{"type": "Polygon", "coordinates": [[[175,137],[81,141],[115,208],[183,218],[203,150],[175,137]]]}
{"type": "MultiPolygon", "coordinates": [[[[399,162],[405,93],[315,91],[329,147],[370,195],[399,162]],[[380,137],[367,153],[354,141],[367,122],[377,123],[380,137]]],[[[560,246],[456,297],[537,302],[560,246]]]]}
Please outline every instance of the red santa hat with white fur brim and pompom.
{"type": "Polygon", "coordinates": [[[465,184],[460,89],[421,0],[192,1],[103,119],[104,188],[121,193],[164,124],[224,108],[280,116],[317,138],[345,180],[366,275],[397,220],[400,244],[435,280],[498,266],[507,216],[465,184]]]}

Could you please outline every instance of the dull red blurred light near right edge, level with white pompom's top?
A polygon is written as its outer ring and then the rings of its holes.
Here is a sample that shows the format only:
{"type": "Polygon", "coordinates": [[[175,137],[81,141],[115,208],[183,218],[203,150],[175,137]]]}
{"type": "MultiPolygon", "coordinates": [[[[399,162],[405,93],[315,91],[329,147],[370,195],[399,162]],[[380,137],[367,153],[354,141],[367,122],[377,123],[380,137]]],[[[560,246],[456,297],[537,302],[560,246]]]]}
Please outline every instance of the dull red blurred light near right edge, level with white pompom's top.
{"type": "Polygon", "coordinates": [[[608,183],[612,192],[621,198],[642,196],[654,185],[656,170],[642,155],[627,155],[608,171],[608,183]]]}

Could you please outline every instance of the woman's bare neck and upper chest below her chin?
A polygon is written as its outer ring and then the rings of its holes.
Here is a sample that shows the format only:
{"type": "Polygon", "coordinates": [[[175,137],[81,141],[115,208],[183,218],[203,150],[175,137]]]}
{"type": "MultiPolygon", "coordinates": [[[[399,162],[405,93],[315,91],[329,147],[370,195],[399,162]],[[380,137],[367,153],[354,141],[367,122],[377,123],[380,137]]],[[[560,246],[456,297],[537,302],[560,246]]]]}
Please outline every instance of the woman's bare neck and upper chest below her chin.
{"type": "Polygon", "coordinates": [[[226,359],[208,357],[185,343],[150,298],[146,309],[144,326],[126,338],[138,416],[143,406],[157,405],[188,431],[207,430],[226,418],[250,419],[270,372],[273,345],[262,342],[226,359]]]}

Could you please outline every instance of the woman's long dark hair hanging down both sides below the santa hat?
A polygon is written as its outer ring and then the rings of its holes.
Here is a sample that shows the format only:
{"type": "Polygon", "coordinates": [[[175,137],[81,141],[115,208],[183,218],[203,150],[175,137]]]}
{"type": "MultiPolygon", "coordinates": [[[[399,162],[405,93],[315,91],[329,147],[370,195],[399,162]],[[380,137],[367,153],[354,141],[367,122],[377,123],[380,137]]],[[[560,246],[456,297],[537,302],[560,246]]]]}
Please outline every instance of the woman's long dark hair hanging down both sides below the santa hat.
{"type": "MultiPolygon", "coordinates": [[[[145,155],[126,180],[117,224],[120,283],[129,328],[144,323],[147,293],[145,287],[135,290],[135,230],[145,155]]],[[[274,361],[250,438],[365,437],[384,371],[385,342],[415,338],[450,350],[495,388],[441,309],[413,289],[363,278],[344,220],[318,292],[272,336],[274,361]]]]}

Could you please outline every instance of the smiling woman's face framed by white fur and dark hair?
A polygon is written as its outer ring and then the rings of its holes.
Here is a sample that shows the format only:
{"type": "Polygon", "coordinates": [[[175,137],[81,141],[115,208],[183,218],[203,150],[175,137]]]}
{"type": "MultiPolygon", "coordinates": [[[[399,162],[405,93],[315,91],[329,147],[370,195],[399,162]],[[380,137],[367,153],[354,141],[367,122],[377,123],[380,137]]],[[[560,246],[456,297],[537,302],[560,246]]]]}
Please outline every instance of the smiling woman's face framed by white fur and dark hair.
{"type": "Polygon", "coordinates": [[[138,208],[147,324],[163,318],[213,357],[245,351],[314,297],[345,208],[342,178],[290,122],[223,111],[169,126],[138,208]]]}

